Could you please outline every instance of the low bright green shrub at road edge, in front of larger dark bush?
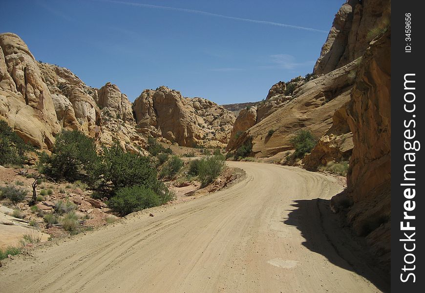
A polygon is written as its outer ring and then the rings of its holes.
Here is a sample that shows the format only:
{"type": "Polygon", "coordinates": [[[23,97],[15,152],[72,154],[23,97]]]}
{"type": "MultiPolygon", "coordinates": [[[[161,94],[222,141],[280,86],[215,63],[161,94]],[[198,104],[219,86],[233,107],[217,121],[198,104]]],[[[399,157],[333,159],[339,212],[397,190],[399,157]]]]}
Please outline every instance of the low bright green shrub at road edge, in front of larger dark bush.
{"type": "Polygon", "coordinates": [[[168,201],[161,198],[155,191],[144,186],[120,188],[108,201],[108,207],[121,215],[141,209],[159,206],[168,201]]]}

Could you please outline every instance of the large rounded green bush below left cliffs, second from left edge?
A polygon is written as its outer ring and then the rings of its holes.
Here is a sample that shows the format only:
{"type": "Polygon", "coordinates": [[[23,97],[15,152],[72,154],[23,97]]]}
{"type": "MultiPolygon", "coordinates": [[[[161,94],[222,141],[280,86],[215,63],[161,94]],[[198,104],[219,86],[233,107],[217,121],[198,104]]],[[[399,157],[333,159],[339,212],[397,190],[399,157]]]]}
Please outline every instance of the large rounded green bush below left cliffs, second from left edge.
{"type": "Polygon", "coordinates": [[[53,153],[40,154],[40,171],[55,178],[76,178],[81,171],[90,170],[98,156],[92,138],[78,130],[64,130],[56,138],[53,153]]]}

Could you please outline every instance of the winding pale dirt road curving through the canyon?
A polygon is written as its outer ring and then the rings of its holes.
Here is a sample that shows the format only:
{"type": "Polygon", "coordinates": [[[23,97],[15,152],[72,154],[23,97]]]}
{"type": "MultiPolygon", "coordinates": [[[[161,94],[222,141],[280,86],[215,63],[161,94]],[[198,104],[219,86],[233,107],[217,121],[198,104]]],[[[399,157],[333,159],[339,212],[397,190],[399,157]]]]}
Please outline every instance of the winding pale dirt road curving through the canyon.
{"type": "Polygon", "coordinates": [[[35,258],[18,257],[0,268],[0,292],[380,292],[344,260],[311,249],[335,254],[317,205],[294,201],[329,199],[342,189],[335,179],[294,167],[228,164],[247,178],[155,208],[154,217],[140,212],[38,249],[35,258]],[[317,235],[308,246],[305,233],[317,235]]]}

